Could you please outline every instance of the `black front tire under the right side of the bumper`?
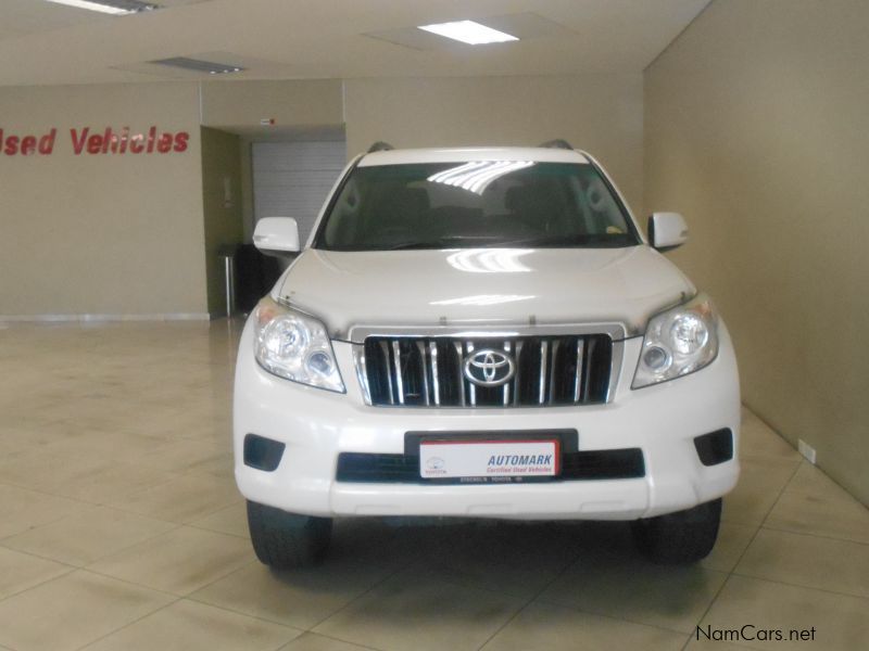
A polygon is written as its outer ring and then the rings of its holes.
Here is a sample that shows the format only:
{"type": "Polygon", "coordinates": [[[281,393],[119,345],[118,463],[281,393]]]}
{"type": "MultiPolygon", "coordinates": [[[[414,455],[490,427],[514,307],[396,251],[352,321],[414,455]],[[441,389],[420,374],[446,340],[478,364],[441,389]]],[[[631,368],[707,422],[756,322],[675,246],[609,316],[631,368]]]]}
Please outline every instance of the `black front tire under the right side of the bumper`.
{"type": "Polygon", "coordinates": [[[706,558],[718,537],[721,498],[656,518],[637,520],[633,539],[656,563],[693,563],[706,558]]]}

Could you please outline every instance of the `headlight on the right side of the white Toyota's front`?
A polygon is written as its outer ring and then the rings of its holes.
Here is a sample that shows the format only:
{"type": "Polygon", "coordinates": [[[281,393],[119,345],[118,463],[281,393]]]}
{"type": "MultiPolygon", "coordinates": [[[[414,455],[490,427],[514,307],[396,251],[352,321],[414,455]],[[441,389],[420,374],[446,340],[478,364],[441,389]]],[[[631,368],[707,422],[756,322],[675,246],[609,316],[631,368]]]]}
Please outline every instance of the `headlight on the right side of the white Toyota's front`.
{"type": "Polygon", "coordinates": [[[631,388],[687,375],[711,363],[718,355],[718,315],[708,296],[652,317],[631,388]]]}

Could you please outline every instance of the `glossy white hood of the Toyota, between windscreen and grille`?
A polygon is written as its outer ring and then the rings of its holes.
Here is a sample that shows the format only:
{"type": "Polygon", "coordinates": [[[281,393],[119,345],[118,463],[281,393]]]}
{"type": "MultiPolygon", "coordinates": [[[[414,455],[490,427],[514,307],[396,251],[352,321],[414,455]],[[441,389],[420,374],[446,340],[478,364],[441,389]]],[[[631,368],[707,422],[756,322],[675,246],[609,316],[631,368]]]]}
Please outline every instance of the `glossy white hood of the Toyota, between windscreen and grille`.
{"type": "Polygon", "coordinates": [[[320,318],[333,339],[353,327],[619,323],[693,295],[648,246],[302,253],[273,296],[320,318]]]}

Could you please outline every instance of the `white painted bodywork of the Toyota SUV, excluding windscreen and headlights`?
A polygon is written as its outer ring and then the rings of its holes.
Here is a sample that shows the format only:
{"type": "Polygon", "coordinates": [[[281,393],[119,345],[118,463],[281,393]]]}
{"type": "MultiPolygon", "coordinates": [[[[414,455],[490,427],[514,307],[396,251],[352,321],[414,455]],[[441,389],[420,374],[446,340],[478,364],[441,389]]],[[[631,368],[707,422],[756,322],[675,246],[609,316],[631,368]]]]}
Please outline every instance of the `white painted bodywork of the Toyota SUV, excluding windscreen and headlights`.
{"type": "MultiPolygon", "coordinates": [[[[408,150],[364,155],[351,163],[345,175],[364,167],[488,161],[595,165],[588,155],[563,149],[408,150]]],[[[340,189],[339,183],[333,192],[340,189]]],[[[624,207],[624,200],[616,196],[624,207]]],[[[328,209],[327,202],[318,227],[328,209]]],[[[270,299],[323,323],[343,391],[303,384],[266,370],[255,355],[259,331],[256,315],[251,316],[241,336],[235,383],[236,480],[243,496],[281,511],[319,518],[637,520],[691,509],[728,493],[739,475],[740,393],[727,328],[717,320],[717,333],[713,333],[717,334],[717,354],[703,368],[633,387],[650,319],[685,304],[697,291],[647,244],[633,217],[627,215],[638,241],[610,248],[517,245],[335,251],[316,247],[312,235],[275,285],[270,299]],[[516,388],[513,396],[504,390],[507,405],[474,406],[471,381],[462,393],[464,405],[444,406],[436,404],[432,396],[437,394],[428,386],[446,382],[425,366],[433,363],[430,347],[436,340],[494,337],[508,342],[504,344],[507,349],[513,346],[509,342],[525,341],[522,337],[543,337],[527,340],[534,346],[544,341],[556,346],[558,336],[581,339],[589,333],[604,333],[612,340],[606,387],[594,404],[551,404],[554,398],[541,393],[542,404],[527,404],[533,398],[526,395],[526,401],[517,405],[514,400],[518,401],[520,390],[516,388]],[[400,367],[404,359],[398,353],[399,344],[390,342],[399,337],[420,342],[416,363],[423,363],[423,373],[427,373],[426,404],[403,405],[400,392],[391,385],[390,404],[373,404],[374,390],[366,376],[370,372],[366,363],[373,360],[365,359],[365,342],[377,336],[386,337],[387,344],[381,345],[386,346],[383,368],[391,369],[389,372],[394,371],[390,365],[394,366],[396,358],[400,367]],[[388,346],[392,345],[398,357],[390,357],[388,346]],[[524,432],[533,434],[533,441],[549,441],[540,433],[567,432],[566,438],[557,442],[556,456],[566,454],[567,445],[571,454],[585,454],[582,458],[591,461],[605,461],[604,457],[588,456],[594,452],[632,450],[639,470],[634,468],[626,476],[609,471],[572,478],[546,474],[544,481],[536,482],[515,477],[503,483],[473,477],[432,482],[426,475],[426,463],[419,461],[419,446],[431,437],[445,444],[478,442],[490,445],[479,448],[481,452],[494,454],[500,450],[498,442],[505,441],[505,432],[511,434],[507,442],[522,441],[524,432]],[[695,439],[716,432],[729,433],[730,455],[707,464],[701,460],[695,439]],[[249,435],[282,444],[273,470],[245,463],[249,435]],[[388,473],[379,478],[373,475],[371,481],[358,476],[342,481],[339,457],[345,454],[404,460],[404,474],[398,481],[388,473]]],[[[679,235],[684,239],[683,232],[667,233],[679,235]]],[[[578,339],[569,341],[570,345],[583,345],[578,339]]],[[[378,349],[368,348],[369,357],[378,349]]],[[[471,360],[474,348],[463,348],[462,359],[495,374],[496,365],[502,363],[500,352],[499,347],[493,357],[471,360]]],[[[554,378],[556,353],[547,354],[554,378]]],[[[513,355],[516,359],[511,363],[518,366],[520,355],[513,355]]],[[[545,359],[545,354],[540,359],[545,359]]],[[[543,361],[537,363],[543,366],[543,361]]],[[[580,362],[576,369],[579,378],[580,362]]],[[[401,379],[405,371],[400,369],[392,378],[401,379]]],[[[545,386],[546,381],[542,382],[545,386]]],[[[577,392],[578,385],[579,379],[577,392]]],[[[553,392],[554,386],[552,380],[553,392]]],[[[483,393],[479,387],[476,392],[483,393]]],[[[416,394],[415,399],[423,400],[416,394]]],[[[456,455],[461,458],[461,448],[443,449],[453,459],[456,455]]],[[[438,457],[429,465],[442,462],[438,457]]]]}

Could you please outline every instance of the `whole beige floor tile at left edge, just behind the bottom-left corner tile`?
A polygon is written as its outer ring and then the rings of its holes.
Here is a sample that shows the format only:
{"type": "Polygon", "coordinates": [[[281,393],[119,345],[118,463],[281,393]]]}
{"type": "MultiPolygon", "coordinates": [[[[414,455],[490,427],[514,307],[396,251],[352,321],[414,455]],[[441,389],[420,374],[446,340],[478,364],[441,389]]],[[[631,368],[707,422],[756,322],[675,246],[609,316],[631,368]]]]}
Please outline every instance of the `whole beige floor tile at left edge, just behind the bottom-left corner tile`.
{"type": "Polygon", "coordinates": [[[177,526],[116,509],[89,507],[4,538],[2,544],[71,565],[86,565],[177,526]]]}

